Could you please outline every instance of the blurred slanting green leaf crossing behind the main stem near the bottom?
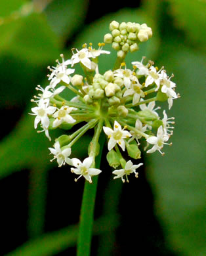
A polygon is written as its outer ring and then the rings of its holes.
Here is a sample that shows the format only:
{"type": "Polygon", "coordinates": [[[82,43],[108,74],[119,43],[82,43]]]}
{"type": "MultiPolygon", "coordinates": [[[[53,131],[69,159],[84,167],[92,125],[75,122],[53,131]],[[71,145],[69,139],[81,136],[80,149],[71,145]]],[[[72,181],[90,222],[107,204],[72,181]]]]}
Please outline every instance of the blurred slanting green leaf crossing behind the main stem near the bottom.
{"type": "MultiPolygon", "coordinates": [[[[94,235],[106,232],[110,228],[119,226],[118,215],[106,215],[94,221],[94,235]],[[110,223],[110,225],[108,225],[110,223]]],[[[62,228],[56,232],[45,234],[40,238],[31,240],[26,244],[18,247],[15,251],[7,254],[7,256],[49,256],[54,255],[64,249],[75,246],[77,241],[78,226],[69,226],[62,228]]]]}

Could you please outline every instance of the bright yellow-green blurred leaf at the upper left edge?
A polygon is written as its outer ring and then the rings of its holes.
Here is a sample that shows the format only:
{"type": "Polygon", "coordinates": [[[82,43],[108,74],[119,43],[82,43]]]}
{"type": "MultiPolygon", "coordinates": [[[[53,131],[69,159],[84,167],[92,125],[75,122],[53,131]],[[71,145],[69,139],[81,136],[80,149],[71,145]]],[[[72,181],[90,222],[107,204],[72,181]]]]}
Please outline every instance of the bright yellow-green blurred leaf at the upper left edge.
{"type": "Polygon", "coordinates": [[[43,14],[30,14],[2,24],[0,33],[0,54],[9,53],[35,64],[47,64],[59,55],[58,37],[43,14]]]}

